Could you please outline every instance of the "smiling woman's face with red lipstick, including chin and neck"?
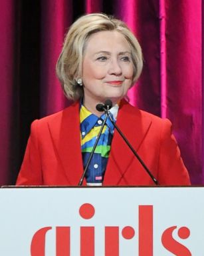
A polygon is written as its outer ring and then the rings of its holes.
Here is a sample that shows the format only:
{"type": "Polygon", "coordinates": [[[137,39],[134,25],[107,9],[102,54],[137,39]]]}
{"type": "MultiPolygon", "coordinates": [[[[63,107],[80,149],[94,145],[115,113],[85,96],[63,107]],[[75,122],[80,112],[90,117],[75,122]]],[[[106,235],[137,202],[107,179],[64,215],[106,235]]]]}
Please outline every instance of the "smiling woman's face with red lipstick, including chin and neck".
{"type": "Polygon", "coordinates": [[[101,31],[88,39],[82,63],[84,105],[95,108],[111,99],[116,103],[132,85],[134,67],[130,45],[118,31],[101,31]]]}

